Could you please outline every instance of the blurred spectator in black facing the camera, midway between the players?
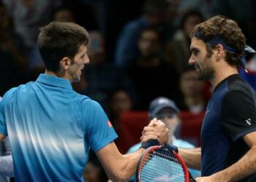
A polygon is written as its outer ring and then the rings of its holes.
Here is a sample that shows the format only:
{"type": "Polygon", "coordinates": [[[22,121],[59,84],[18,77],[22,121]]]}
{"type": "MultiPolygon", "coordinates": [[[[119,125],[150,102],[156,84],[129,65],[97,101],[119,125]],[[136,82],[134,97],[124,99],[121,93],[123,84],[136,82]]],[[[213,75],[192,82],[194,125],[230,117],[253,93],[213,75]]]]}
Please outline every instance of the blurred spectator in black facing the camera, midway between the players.
{"type": "Polygon", "coordinates": [[[127,68],[129,78],[135,85],[140,99],[140,105],[135,109],[147,110],[148,103],[158,95],[177,98],[178,90],[170,87],[170,84],[178,87],[178,74],[162,59],[157,29],[146,28],[141,32],[138,50],[140,55],[127,68]]]}

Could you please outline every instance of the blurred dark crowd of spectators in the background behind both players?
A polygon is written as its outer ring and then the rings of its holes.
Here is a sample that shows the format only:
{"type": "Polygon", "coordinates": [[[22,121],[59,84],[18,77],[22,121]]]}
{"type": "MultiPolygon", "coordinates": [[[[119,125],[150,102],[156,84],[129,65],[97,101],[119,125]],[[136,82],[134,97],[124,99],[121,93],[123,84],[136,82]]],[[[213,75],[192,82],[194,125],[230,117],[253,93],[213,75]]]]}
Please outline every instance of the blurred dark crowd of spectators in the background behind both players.
{"type": "MultiPolygon", "coordinates": [[[[97,100],[116,130],[124,111],[147,111],[159,96],[172,99],[181,111],[200,113],[211,87],[197,81],[188,64],[189,33],[218,14],[236,20],[247,44],[256,48],[253,0],[0,0],[0,95],[44,73],[37,47],[40,27],[75,22],[90,33],[91,63],[73,87],[97,100]]],[[[249,74],[240,73],[256,89],[256,56],[247,62],[249,74]]],[[[95,158],[92,154],[84,177],[106,181],[95,158]]]]}

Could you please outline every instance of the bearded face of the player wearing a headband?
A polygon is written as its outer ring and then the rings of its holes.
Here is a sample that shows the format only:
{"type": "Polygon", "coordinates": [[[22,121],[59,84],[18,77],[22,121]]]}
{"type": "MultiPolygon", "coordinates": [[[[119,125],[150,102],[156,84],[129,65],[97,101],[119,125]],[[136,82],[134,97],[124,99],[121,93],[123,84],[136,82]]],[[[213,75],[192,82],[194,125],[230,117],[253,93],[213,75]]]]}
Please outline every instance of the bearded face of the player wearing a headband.
{"type": "Polygon", "coordinates": [[[195,67],[197,79],[208,81],[213,79],[215,74],[213,58],[207,57],[206,43],[194,37],[191,40],[190,51],[192,54],[189,64],[195,67]]]}

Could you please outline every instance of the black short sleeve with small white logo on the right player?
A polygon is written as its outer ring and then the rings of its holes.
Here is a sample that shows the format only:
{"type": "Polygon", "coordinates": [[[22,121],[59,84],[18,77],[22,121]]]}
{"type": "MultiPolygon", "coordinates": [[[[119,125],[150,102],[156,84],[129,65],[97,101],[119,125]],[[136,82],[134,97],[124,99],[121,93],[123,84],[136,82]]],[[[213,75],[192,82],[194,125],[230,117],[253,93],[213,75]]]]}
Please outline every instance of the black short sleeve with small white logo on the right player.
{"type": "Polygon", "coordinates": [[[233,141],[256,130],[255,100],[240,90],[225,95],[220,121],[233,141]]]}

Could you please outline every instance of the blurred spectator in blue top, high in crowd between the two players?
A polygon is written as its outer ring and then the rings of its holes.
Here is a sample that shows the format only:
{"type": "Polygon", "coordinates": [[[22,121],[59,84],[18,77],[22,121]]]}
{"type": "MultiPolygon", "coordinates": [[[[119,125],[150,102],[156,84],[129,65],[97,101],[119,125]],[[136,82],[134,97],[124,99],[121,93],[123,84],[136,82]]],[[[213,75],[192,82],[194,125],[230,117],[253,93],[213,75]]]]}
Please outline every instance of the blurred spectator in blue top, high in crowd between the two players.
{"type": "Polygon", "coordinates": [[[165,0],[145,1],[143,4],[143,15],[127,23],[121,31],[116,44],[116,66],[127,67],[140,55],[137,44],[143,29],[154,26],[159,31],[163,30],[163,25],[167,21],[169,5],[165,0]]]}

